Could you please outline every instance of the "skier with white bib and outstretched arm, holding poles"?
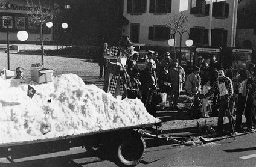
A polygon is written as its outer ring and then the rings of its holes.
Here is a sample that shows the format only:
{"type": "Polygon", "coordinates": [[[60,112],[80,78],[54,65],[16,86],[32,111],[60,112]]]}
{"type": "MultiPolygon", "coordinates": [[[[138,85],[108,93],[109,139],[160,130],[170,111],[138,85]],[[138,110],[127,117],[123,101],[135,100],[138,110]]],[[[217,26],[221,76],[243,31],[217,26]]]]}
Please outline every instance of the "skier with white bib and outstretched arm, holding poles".
{"type": "Polygon", "coordinates": [[[233,85],[231,79],[225,76],[224,70],[221,69],[218,71],[218,78],[214,82],[213,87],[208,91],[208,93],[200,94],[200,98],[206,98],[211,96],[215,91],[219,91],[220,94],[220,106],[218,113],[218,125],[217,125],[217,134],[223,135],[223,117],[227,116],[229,123],[231,124],[231,130],[229,130],[230,135],[235,133],[235,121],[232,117],[233,111],[233,85]]]}

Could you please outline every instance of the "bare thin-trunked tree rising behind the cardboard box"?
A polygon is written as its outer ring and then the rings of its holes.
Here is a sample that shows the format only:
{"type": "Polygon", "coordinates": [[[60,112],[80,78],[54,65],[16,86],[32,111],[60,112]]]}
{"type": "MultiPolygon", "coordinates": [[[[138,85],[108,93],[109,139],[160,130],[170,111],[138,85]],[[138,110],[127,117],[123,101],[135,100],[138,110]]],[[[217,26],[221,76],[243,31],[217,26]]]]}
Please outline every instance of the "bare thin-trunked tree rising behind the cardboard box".
{"type": "MultiPolygon", "coordinates": [[[[53,20],[55,11],[51,8],[51,1],[37,1],[35,4],[33,0],[26,0],[27,2],[27,19],[31,24],[40,25],[40,40],[42,49],[42,65],[44,67],[43,56],[45,55],[43,49],[43,25],[53,20]]],[[[53,6],[53,5],[52,5],[53,6]]]]}

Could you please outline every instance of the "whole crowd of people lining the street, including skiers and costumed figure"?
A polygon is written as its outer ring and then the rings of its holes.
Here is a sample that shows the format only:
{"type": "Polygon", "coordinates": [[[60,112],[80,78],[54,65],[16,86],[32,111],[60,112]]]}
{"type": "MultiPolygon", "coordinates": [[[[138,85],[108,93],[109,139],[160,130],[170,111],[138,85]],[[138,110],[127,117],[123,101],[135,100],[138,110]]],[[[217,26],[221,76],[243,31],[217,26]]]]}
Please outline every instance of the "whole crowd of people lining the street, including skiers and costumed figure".
{"type": "Polygon", "coordinates": [[[109,53],[104,53],[107,59],[104,91],[107,93],[112,93],[114,97],[139,98],[147,111],[155,116],[156,105],[162,100],[159,92],[166,93],[168,98],[168,104],[161,105],[161,109],[176,111],[179,110],[179,95],[185,88],[187,96],[193,99],[193,105],[188,110],[190,119],[217,116],[216,131],[222,133],[223,117],[227,116],[231,125],[230,133],[235,133],[236,130],[243,131],[242,115],[245,115],[247,130],[254,130],[254,64],[248,68],[244,65],[237,69],[232,66],[223,69],[215,55],[211,56],[210,61],[199,57],[191,73],[186,75],[178,59],[170,58],[168,52],[158,56],[157,52],[149,50],[144,68],[141,69],[137,65],[139,54],[132,54],[132,51],[132,43],[125,38],[120,40],[118,46],[111,47],[109,53]]]}

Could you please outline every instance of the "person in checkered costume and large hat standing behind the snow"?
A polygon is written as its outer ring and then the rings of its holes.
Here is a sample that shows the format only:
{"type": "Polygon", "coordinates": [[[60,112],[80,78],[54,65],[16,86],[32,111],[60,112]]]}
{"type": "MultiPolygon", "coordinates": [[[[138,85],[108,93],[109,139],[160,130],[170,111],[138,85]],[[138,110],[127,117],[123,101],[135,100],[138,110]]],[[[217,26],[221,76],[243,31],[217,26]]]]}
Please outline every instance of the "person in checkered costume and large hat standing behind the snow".
{"type": "Polygon", "coordinates": [[[122,37],[118,41],[118,46],[110,48],[109,52],[104,53],[107,61],[107,74],[104,79],[103,90],[111,93],[114,97],[126,96],[126,82],[130,79],[126,72],[125,65],[127,58],[133,54],[133,43],[128,37],[122,37]]]}

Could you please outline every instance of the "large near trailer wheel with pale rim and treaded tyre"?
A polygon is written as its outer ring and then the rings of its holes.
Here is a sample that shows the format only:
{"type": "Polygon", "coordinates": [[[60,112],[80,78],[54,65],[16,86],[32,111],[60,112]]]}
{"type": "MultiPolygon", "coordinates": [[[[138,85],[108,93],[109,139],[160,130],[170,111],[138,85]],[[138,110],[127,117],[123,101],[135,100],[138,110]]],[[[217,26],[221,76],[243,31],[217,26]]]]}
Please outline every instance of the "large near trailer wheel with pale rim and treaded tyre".
{"type": "Polygon", "coordinates": [[[144,158],[146,143],[139,133],[129,133],[117,145],[116,163],[118,166],[136,166],[144,158]]]}

